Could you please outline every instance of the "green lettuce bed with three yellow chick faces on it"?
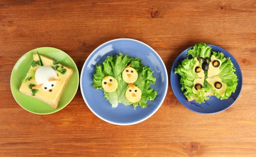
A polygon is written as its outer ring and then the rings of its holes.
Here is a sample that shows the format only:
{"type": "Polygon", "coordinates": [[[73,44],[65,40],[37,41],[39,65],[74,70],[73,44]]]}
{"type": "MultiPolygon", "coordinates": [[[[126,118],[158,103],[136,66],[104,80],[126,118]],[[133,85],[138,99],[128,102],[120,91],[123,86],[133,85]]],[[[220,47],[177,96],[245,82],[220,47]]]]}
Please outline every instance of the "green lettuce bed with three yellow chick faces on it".
{"type": "Polygon", "coordinates": [[[104,90],[105,98],[116,108],[118,103],[146,108],[147,101],[154,100],[157,92],[150,88],[156,77],[150,67],[141,63],[140,58],[131,58],[119,53],[119,56],[107,56],[103,64],[96,65],[93,87],[104,90]]]}

